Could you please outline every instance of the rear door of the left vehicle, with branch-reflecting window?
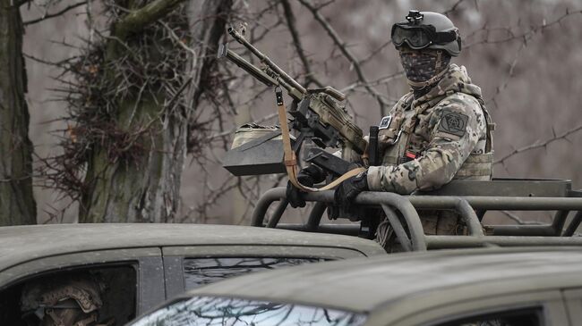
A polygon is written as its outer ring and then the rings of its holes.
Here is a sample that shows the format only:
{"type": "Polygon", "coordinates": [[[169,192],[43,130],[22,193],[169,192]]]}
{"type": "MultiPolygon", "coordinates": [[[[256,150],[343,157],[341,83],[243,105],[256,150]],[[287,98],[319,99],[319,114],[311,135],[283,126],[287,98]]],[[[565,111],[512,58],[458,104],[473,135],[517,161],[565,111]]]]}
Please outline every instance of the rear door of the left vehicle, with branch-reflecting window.
{"type": "Polygon", "coordinates": [[[349,248],[277,245],[163,247],[162,253],[167,298],[248,272],[365,256],[349,248]]]}

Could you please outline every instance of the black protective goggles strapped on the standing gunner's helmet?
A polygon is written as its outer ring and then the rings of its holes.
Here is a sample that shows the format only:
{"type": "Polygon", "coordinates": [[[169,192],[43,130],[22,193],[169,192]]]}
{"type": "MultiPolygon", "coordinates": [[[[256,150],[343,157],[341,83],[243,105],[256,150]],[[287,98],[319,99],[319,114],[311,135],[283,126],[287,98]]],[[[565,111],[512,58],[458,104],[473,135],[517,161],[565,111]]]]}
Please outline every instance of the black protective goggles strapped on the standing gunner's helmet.
{"type": "Polygon", "coordinates": [[[394,46],[402,46],[406,42],[410,48],[420,50],[432,44],[447,44],[457,40],[458,36],[455,30],[437,32],[432,25],[400,22],[392,25],[390,38],[394,46]]]}

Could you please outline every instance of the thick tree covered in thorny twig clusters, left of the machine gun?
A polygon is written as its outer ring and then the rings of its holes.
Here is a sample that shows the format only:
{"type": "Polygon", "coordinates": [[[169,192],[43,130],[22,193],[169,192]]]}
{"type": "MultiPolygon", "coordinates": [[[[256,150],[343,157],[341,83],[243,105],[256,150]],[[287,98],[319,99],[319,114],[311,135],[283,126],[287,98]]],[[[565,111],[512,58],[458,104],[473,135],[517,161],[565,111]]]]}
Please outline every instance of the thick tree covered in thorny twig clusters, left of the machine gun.
{"type": "Polygon", "coordinates": [[[80,201],[80,222],[174,219],[193,102],[231,1],[202,2],[192,31],[182,3],[105,1],[109,32],[61,64],[69,128],[45,171],[80,201]]]}

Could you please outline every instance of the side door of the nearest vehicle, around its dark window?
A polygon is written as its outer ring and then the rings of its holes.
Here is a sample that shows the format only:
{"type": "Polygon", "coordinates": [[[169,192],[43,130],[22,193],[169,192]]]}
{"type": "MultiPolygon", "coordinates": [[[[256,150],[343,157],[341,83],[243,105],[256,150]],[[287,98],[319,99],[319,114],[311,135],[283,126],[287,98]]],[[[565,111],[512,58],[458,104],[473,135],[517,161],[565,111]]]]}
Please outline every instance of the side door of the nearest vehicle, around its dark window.
{"type": "MultiPolygon", "coordinates": [[[[421,303],[422,300],[418,301],[421,303]]],[[[495,297],[478,297],[454,304],[419,308],[414,314],[402,316],[398,322],[380,322],[375,325],[416,326],[550,326],[569,325],[568,314],[560,290],[523,292],[495,297]]]]}

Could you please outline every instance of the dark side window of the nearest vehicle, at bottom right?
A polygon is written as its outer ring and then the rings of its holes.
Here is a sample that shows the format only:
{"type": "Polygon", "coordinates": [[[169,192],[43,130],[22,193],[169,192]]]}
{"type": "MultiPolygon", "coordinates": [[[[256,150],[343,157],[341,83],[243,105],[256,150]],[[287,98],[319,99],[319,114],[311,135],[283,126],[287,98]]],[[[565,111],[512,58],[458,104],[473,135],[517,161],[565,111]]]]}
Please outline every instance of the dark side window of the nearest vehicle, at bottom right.
{"type": "Polygon", "coordinates": [[[465,317],[438,326],[542,326],[542,309],[519,309],[465,317]]]}

